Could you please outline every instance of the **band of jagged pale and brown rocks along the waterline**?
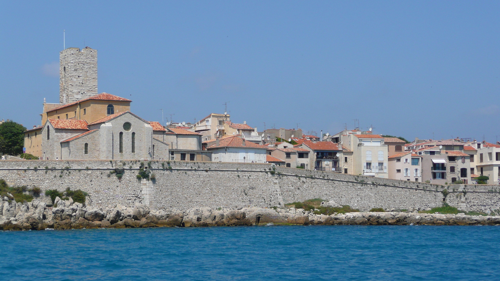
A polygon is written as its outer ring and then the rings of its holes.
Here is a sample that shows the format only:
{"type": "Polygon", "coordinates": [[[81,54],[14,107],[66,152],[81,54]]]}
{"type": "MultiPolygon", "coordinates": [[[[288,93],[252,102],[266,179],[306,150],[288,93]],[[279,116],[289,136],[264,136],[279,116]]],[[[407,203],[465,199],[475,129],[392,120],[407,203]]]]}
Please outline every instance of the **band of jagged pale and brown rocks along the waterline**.
{"type": "Polygon", "coordinates": [[[42,202],[19,203],[6,197],[0,201],[0,230],[81,228],[125,228],[164,226],[230,225],[500,225],[500,216],[476,216],[414,212],[350,212],[314,214],[295,208],[151,210],[143,204],[92,208],[69,200],[55,199],[54,206],[42,202]]]}

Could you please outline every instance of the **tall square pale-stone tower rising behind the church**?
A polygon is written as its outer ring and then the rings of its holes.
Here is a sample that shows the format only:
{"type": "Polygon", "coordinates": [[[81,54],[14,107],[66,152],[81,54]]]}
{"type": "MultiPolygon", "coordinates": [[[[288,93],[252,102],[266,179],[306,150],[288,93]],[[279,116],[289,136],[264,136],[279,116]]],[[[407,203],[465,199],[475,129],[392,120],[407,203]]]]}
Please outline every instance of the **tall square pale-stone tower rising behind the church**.
{"type": "Polygon", "coordinates": [[[59,53],[59,103],[97,94],[97,50],[67,48],[59,53]]]}

